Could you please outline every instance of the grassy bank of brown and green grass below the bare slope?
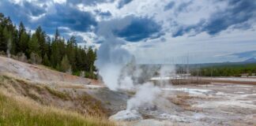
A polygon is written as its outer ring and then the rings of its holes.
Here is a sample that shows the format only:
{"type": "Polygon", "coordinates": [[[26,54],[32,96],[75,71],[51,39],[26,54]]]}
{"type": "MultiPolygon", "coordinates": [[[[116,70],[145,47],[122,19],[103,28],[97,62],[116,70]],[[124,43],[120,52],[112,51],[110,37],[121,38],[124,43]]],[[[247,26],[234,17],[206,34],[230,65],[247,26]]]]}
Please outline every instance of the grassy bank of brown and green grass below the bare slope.
{"type": "Polygon", "coordinates": [[[101,103],[90,95],[72,98],[42,84],[0,76],[1,126],[115,125],[103,115],[101,103]],[[66,106],[65,102],[77,106],[67,109],[62,107],[66,106]]]}

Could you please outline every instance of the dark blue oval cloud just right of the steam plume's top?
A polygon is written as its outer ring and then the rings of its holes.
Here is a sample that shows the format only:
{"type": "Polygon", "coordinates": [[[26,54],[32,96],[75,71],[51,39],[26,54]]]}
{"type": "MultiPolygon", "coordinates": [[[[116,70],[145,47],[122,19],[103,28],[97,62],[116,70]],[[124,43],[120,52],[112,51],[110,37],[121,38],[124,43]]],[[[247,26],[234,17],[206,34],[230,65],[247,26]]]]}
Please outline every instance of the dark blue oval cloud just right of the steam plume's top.
{"type": "Polygon", "coordinates": [[[137,42],[142,39],[159,38],[161,26],[147,17],[133,17],[125,28],[115,30],[114,34],[126,41],[137,42]]]}

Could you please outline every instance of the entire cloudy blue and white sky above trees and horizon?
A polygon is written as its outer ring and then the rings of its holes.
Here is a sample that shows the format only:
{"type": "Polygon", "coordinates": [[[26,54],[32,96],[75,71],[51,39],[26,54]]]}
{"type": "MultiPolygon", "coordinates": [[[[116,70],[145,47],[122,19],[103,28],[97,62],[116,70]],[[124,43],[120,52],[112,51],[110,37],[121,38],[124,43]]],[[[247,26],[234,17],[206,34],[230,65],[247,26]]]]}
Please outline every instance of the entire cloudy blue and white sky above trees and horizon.
{"type": "Polygon", "coordinates": [[[75,35],[81,46],[99,47],[106,28],[140,63],[256,57],[254,0],[1,0],[0,12],[32,31],[75,35]]]}

